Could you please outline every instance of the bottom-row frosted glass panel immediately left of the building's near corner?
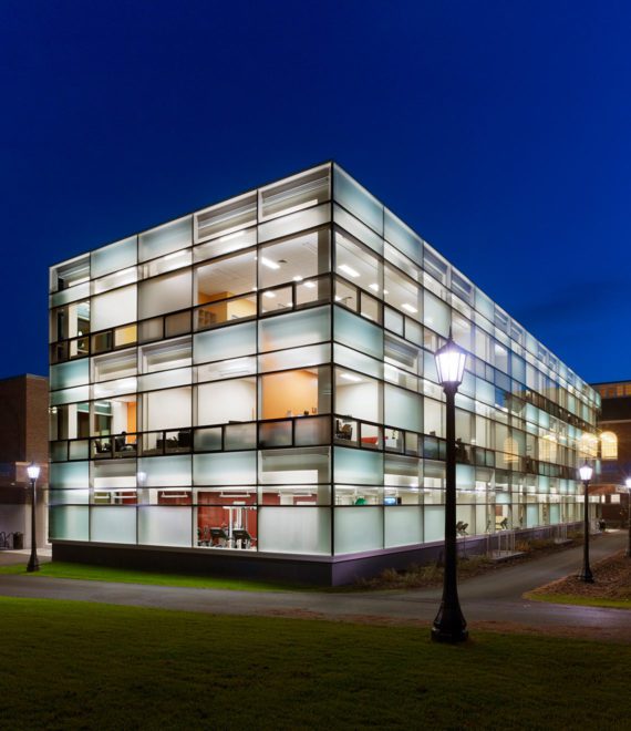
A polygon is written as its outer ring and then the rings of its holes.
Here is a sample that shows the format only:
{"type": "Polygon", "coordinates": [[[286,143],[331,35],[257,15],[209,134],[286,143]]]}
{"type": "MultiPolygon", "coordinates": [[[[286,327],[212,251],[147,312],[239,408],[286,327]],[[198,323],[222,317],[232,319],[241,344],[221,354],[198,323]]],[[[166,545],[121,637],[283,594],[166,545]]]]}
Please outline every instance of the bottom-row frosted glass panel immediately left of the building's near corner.
{"type": "Polygon", "coordinates": [[[330,508],[260,507],[259,550],[283,554],[330,554],[330,508]]]}

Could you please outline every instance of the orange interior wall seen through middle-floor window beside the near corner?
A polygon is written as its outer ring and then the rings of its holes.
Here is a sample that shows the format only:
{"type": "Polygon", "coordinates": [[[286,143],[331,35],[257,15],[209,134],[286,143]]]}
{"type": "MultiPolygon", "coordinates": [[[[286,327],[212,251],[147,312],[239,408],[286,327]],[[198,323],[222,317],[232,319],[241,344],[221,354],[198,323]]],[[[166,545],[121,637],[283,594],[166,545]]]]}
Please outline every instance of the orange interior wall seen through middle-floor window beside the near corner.
{"type": "Polygon", "coordinates": [[[289,371],[263,378],[262,418],[299,416],[318,408],[318,377],[310,371],[289,371]]]}

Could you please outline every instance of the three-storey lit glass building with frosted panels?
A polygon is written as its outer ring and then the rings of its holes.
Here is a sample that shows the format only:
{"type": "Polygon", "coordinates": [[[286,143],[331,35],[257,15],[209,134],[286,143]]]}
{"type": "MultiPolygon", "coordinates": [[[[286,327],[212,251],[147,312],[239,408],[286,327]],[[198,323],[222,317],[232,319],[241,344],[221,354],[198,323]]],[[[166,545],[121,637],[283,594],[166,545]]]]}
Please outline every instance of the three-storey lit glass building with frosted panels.
{"type": "Polygon", "coordinates": [[[340,583],[581,519],[599,395],[334,163],[51,268],[54,556],[340,583]],[[307,573],[307,574],[306,574],[307,573]]]}

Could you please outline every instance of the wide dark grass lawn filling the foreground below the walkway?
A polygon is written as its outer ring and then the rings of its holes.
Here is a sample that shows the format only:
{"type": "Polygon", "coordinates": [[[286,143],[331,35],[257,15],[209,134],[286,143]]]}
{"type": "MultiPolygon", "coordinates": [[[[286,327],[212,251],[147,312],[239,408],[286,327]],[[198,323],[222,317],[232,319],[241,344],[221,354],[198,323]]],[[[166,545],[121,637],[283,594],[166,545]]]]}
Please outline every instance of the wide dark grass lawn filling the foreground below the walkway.
{"type": "Polygon", "coordinates": [[[629,728],[629,645],[46,599],[0,617],[0,728],[629,728]]]}

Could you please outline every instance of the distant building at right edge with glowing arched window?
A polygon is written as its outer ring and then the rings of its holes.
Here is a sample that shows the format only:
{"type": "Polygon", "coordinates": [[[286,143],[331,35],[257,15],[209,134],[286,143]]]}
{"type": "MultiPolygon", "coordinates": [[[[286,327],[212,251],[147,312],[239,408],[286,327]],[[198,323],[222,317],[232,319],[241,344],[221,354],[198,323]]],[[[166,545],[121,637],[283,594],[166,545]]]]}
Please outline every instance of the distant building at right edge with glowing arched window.
{"type": "Polygon", "coordinates": [[[600,393],[599,428],[601,470],[599,484],[602,517],[610,524],[629,519],[629,493],[624,484],[631,477],[631,381],[594,383],[600,393]]]}

